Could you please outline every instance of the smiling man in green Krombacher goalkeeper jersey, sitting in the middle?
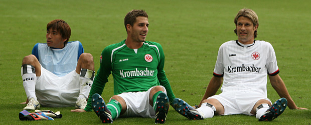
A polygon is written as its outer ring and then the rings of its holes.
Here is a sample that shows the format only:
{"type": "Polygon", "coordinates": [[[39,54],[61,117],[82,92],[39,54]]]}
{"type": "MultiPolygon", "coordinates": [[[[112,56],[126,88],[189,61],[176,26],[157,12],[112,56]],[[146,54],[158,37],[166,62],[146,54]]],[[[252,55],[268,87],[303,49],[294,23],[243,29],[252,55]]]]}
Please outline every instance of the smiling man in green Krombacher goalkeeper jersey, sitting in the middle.
{"type": "Polygon", "coordinates": [[[103,123],[117,117],[151,117],[164,123],[175,95],[164,71],[164,52],[157,42],[146,41],[148,15],[144,10],[131,10],[124,18],[127,38],[104,48],[87,106],[72,111],[91,111],[103,123]],[[105,104],[103,92],[112,73],[114,95],[105,104]]]}

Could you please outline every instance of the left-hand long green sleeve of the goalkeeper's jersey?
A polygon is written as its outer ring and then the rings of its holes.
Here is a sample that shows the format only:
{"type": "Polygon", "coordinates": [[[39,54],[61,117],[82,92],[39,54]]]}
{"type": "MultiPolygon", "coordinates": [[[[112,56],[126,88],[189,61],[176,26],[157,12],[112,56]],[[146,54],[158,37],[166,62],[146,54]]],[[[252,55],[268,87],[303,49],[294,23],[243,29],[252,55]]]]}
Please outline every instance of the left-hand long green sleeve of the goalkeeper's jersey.
{"type": "Polygon", "coordinates": [[[108,77],[111,74],[111,62],[110,62],[110,57],[111,57],[111,51],[109,50],[108,47],[106,47],[100,55],[100,66],[99,69],[97,70],[97,74],[95,75],[87,105],[84,108],[86,111],[91,111],[92,110],[92,105],[91,105],[91,100],[92,100],[92,95],[95,93],[102,94],[106,82],[108,82],[108,77]]]}

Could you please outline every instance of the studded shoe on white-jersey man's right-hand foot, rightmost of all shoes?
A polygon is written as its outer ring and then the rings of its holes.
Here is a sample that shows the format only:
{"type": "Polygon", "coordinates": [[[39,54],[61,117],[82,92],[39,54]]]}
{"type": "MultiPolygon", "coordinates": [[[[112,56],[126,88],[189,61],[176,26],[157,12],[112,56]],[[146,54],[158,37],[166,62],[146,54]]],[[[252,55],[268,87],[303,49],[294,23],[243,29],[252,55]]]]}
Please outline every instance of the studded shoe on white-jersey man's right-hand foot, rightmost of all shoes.
{"type": "Polygon", "coordinates": [[[278,100],[276,100],[270,108],[264,112],[260,118],[259,121],[271,121],[274,118],[277,118],[278,115],[283,113],[287,106],[287,100],[286,98],[282,97],[278,100]]]}

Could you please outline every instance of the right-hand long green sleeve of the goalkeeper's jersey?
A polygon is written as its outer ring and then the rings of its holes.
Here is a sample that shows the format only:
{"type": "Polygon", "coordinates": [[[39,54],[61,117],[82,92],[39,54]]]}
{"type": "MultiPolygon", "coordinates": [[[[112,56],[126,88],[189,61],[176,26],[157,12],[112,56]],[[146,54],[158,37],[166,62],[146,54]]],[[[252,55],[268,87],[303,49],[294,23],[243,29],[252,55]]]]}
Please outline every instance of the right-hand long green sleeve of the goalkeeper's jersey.
{"type": "Polygon", "coordinates": [[[175,95],[173,93],[169,79],[167,78],[165,71],[164,71],[165,56],[164,56],[163,48],[160,44],[158,45],[158,48],[159,48],[159,52],[160,52],[160,62],[159,62],[159,65],[157,67],[158,68],[157,76],[158,76],[160,84],[162,86],[164,86],[165,89],[167,90],[167,95],[169,97],[170,103],[172,104],[173,99],[175,98],[175,95]]]}

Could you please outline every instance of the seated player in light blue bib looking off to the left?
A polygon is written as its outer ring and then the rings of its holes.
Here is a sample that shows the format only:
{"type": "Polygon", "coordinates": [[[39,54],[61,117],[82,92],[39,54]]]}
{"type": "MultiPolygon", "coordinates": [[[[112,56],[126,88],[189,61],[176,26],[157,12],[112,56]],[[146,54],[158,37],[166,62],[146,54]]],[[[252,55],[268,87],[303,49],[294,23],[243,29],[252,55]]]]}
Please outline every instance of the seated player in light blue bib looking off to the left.
{"type": "Polygon", "coordinates": [[[69,25],[62,19],[47,24],[47,42],[37,43],[22,63],[26,110],[42,106],[84,109],[94,77],[93,56],[80,41],[68,42],[69,25]]]}

